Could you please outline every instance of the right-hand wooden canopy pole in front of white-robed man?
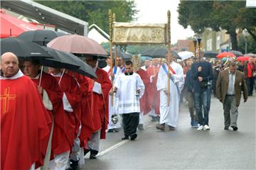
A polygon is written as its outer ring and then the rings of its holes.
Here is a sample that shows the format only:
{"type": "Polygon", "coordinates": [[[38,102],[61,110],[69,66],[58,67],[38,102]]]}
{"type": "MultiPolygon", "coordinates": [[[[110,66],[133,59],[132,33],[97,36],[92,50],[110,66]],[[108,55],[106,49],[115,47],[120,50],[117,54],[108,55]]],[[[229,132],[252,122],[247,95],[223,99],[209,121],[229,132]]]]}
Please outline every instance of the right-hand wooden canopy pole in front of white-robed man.
{"type": "MultiPolygon", "coordinates": [[[[167,28],[168,28],[168,58],[167,58],[167,67],[168,67],[168,76],[171,73],[169,69],[170,57],[171,57],[171,11],[167,11],[167,28]]],[[[167,103],[170,106],[170,78],[168,77],[168,95],[167,95],[167,103]]]]}

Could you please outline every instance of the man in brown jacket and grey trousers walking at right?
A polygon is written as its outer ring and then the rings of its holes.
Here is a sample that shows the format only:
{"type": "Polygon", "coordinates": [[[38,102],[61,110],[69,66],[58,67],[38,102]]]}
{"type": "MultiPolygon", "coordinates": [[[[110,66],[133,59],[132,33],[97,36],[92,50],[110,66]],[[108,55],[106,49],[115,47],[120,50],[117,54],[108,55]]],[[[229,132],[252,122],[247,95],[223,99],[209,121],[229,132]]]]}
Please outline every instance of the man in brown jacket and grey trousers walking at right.
{"type": "Polygon", "coordinates": [[[245,75],[236,70],[236,68],[237,64],[230,62],[229,69],[220,72],[216,83],[217,98],[223,103],[224,108],[224,130],[228,130],[230,125],[233,130],[238,130],[238,106],[240,104],[241,92],[243,92],[245,102],[248,98],[245,75]]]}

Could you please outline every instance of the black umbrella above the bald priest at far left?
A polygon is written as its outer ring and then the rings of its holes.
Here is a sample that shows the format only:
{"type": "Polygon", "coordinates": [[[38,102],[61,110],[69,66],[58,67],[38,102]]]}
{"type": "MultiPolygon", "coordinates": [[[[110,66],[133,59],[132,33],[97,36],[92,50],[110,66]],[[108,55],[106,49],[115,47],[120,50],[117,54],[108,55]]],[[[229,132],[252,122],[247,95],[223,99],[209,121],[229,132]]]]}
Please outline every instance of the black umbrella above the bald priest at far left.
{"type": "Polygon", "coordinates": [[[1,55],[13,52],[17,57],[50,57],[46,50],[34,42],[27,42],[19,38],[4,38],[0,40],[1,55]]]}

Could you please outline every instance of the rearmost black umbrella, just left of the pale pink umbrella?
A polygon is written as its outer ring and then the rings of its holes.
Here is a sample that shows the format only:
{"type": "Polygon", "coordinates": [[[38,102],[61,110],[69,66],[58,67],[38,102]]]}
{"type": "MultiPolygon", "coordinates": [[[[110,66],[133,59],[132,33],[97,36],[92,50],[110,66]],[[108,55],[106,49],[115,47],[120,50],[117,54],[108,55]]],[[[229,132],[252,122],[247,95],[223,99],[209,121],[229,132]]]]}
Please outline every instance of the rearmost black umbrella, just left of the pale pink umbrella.
{"type": "Polygon", "coordinates": [[[41,46],[46,46],[48,42],[62,35],[65,35],[65,33],[58,33],[53,30],[29,30],[18,35],[18,38],[21,40],[36,42],[41,46]]]}

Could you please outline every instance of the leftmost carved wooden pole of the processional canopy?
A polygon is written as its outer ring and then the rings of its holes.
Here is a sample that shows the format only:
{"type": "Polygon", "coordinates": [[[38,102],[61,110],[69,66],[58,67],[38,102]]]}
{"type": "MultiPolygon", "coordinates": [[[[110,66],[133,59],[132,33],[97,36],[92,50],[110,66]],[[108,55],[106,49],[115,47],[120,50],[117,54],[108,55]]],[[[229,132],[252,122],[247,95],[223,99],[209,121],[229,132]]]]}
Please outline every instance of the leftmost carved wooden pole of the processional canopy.
{"type": "Polygon", "coordinates": [[[113,98],[113,54],[112,54],[112,11],[111,9],[109,10],[109,29],[110,29],[110,77],[111,77],[111,84],[112,84],[112,88],[111,88],[111,106],[114,105],[114,98],[113,98]]]}

